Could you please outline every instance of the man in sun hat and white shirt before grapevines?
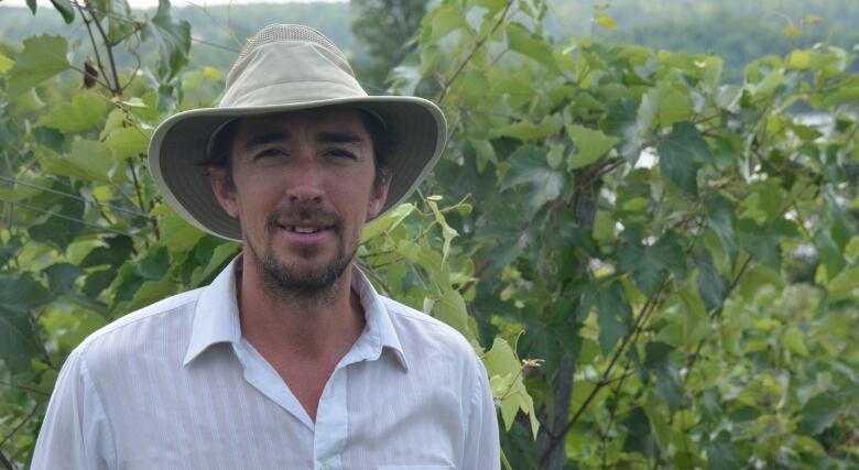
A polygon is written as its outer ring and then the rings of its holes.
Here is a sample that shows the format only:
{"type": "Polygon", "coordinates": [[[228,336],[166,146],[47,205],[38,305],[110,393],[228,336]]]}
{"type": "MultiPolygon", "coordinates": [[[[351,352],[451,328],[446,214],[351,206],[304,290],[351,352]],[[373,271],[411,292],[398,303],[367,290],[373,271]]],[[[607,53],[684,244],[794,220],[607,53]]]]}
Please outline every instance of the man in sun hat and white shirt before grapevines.
{"type": "Polygon", "coordinates": [[[258,33],[220,106],[167,119],[150,146],[165,200],[242,254],[69,356],[33,468],[497,469],[470,346],[351,265],[445,132],[428,101],[368,97],[318,32],[258,33]]]}

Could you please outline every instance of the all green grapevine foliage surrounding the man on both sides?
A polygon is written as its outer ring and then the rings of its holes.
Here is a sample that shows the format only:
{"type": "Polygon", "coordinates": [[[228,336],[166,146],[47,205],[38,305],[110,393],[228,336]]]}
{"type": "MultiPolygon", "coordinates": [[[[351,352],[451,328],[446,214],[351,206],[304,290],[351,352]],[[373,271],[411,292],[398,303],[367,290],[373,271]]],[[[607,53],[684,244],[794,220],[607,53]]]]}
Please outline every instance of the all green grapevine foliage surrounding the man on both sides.
{"type": "MultiPolygon", "coordinates": [[[[217,101],[222,70],[188,68],[191,29],[166,1],[144,19],[94,4],[72,21],[102,26],[98,57],[51,35],[0,55],[14,464],[76,345],[239,249],[173,212],[144,157],[160,120],[217,101]],[[121,50],[143,52],[139,73],[121,50]]],[[[624,10],[555,42],[557,8],[444,0],[403,30],[416,42],[391,85],[442,103],[452,141],[433,196],[369,225],[359,266],[471,341],[511,468],[856,467],[853,54],[776,51],[730,77],[715,55],[602,41],[624,10]]]]}

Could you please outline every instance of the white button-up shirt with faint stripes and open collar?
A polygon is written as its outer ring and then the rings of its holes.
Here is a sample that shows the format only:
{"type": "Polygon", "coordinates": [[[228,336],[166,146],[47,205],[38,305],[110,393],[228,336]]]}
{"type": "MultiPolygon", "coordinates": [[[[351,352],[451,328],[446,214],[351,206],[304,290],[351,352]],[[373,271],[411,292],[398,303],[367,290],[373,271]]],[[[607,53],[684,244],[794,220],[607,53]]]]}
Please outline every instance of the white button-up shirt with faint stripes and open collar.
{"type": "Polygon", "coordinates": [[[33,469],[500,468],[486,371],[457,331],[354,269],[366,327],[314,423],[242,338],[233,263],[72,352],[33,469]]]}

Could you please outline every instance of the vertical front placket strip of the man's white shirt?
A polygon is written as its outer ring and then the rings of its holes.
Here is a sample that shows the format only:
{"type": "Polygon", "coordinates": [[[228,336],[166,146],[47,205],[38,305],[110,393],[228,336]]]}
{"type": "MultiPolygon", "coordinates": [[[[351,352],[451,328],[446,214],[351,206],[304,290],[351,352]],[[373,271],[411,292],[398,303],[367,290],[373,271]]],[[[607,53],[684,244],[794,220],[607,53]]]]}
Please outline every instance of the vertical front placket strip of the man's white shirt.
{"type": "Polygon", "coordinates": [[[346,447],[348,374],[345,365],[338,365],[325,384],[316,408],[314,431],[314,470],[341,470],[340,455],[346,447]]]}

